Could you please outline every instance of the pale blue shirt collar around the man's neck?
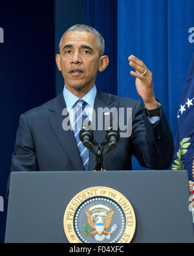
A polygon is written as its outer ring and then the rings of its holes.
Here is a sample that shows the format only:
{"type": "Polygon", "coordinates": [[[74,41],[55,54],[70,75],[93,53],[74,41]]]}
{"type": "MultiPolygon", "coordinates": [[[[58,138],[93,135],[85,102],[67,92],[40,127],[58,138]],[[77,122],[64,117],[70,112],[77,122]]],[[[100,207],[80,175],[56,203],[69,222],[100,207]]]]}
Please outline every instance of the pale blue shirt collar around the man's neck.
{"type": "MultiPolygon", "coordinates": [[[[76,95],[71,93],[65,86],[63,89],[63,97],[65,99],[65,103],[68,110],[70,110],[74,106],[74,104],[80,99],[76,97],[76,95]]],[[[91,108],[94,108],[95,97],[96,97],[96,85],[94,84],[92,89],[82,99],[85,100],[85,102],[87,102],[87,104],[89,104],[91,108]]]]}

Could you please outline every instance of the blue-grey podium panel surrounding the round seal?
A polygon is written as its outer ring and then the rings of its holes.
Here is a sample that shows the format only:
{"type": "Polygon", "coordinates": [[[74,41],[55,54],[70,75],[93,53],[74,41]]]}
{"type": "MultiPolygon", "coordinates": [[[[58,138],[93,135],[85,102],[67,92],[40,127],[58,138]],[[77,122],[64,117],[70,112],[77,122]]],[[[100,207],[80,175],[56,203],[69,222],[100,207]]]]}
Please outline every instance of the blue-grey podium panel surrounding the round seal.
{"type": "Polygon", "coordinates": [[[5,242],[69,242],[65,209],[89,187],[109,187],[129,200],[136,219],[131,242],[194,242],[186,170],[13,172],[5,242]]]}

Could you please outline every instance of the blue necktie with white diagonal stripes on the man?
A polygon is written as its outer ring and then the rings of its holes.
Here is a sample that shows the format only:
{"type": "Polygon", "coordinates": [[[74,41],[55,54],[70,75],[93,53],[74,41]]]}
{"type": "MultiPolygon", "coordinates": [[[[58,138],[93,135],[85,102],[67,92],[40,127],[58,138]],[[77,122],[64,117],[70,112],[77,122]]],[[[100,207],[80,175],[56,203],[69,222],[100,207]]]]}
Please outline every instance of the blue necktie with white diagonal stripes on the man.
{"type": "Polygon", "coordinates": [[[83,143],[80,141],[80,129],[82,126],[83,120],[87,117],[84,115],[84,100],[78,100],[76,103],[76,110],[75,110],[75,119],[74,123],[72,124],[72,129],[74,131],[74,137],[76,139],[76,143],[78,146],[78,150],[80,152],[81,159],[83,161],[83,167],[85,170],[89,169],[89,149],[83,146],[83,143]]]}

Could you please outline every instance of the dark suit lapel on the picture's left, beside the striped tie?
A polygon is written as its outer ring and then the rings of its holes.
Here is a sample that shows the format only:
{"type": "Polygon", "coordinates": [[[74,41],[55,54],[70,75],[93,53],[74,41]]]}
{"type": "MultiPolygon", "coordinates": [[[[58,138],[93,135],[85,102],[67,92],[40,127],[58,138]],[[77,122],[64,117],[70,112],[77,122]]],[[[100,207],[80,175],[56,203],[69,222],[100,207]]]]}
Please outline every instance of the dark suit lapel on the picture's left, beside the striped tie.
{"type": "Polygon", "coordinates": [[[74,166],[75,170],[84,170],[83,163],[80,157],[78,146],[76,145],[76,140],[72,130],[63,130],[62,123],[65,116],[62,115],[63,109],[66,108],[65,100],[63,98],[63,93],[61,93],[56,98],[55,106],[50,108],[50,116],[48,117],[48,122],[58,139],[59,144],[63,148],[64,153],[69,157],[69,161],[74,166]]]}

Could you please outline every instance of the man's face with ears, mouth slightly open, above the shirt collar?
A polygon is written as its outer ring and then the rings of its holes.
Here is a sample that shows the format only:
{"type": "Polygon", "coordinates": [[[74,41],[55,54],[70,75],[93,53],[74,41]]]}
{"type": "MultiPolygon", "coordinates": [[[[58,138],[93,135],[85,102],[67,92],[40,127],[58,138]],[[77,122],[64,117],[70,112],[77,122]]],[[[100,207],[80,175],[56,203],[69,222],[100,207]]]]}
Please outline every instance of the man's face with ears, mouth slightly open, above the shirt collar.
{"type": "MultiPolygon", "coordinates": [[[[94,86],[98,70],[104,67],[104,57],[100,56],[100,49],[94,34],[90,32],[69,31],[65,34],[60,48],[60,55],[56,55],[59,71],[62,71],[65,86],[69,91],[88,90],[94,86]]],[[[108,58],[108,57],[107,57],[108,58]]]]}

